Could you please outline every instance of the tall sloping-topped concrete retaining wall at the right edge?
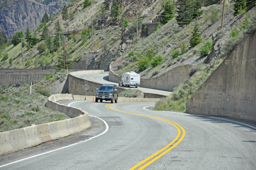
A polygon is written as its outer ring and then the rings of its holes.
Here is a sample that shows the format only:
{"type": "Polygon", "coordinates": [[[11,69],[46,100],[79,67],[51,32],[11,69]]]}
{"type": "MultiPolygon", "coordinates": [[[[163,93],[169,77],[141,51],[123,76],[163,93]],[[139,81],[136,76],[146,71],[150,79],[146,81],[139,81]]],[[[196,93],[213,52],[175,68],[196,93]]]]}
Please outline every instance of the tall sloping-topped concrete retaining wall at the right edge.
{"type": "Polygon", "coordinates": [[[187,113],[256,121],[256,32],[245,37],[187,102],[187,113]]]}

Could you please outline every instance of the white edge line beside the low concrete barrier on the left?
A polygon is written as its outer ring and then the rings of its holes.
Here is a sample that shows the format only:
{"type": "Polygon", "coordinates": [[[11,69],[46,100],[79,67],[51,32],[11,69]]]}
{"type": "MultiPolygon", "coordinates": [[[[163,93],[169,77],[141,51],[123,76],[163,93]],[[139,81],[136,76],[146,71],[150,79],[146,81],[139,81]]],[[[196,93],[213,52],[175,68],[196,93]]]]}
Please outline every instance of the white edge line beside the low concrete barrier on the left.
{"type": "MultiPolygon", "coordinates": [[[[74,103],[74,102],[72,102],[72,103],[74,103]]],[[[71,104],[71,103],[70,103],[70,104],[71,104]]],[[[91,115],[89,115],[89,116],[91,116],[91,115]]],[[[79,144],[79,143],[87,142],[87,141],[89,141],[89,140],[91,140],[91,139],[94,139],[94,138],[97,138],[97,137],[101,136],[102,134],[104,134],[104,133],[106,133],[106,132],[108,131],[109,126],[108,126],[108,124],[107,124],[107,122],[106,122],[106,121],[104,121],[103,119],[98,118],[98,117],[96,117],[96,116],[91,116],[91,117],[94,117],[94,118],[97,118],[97,119],[100,119],[101,121],[103,121],[103,122],[104,122],[104,124],[106,125],[106,130],[105,130],[104,132],[102,132],[101,134],[98,134],[97,136],[94,136],[94,137],[91,137],[91,138],[89,138],[89,139],[86,139],[86,140],[80,141],[80,142],[78,142],[78,143],[74,143],[74,144],[71,144],[71,145],[67,145],[67,146],[64,146],[64,147],[59,148],[59,149],[50,150],[50,151],[48,151],[48,152],[46,152],[46,153],[42,153],[42,154],[38,154],[38,155],[34,155],[34,156],[30,156],[30,157],[26,157],[25,159],[21,159],[21,160],[18,160],[18,161],[10,162],[10,163],[7,163],[7,164],[5,164],[5,165],[0,166],[0,168],[5,167],[5,166],[8,166],[8,165],[12,165],[12,164],[14,164],[14,163],[18,163],[18,162],[21,162],[21,161],[25,161],[25,160],[28,160],[28,159],[32,159],[32,158],[37,157],[37,156],[41,156],[41,155],[45,155],[45,154],[49,154],[49,153],[53,153],[54,151],[57,151],[57,150],[61,150],[61,149],[65,149],[65,148],[69,148],[69,147],[74,146],[74,145],[77,145],[77,144],[79,144]]]]}

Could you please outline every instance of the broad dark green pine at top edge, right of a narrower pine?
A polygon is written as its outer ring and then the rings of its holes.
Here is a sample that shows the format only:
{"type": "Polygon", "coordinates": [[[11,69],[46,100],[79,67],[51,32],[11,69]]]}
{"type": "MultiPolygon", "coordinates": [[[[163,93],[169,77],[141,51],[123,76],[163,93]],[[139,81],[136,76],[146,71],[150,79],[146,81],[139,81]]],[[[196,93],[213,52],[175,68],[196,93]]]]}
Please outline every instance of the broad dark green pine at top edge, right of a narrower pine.
{"type": "Polygon", "coordinates": [[[188,25],[194,14],[194,5],[192,0],[181,0],[179,1],[178,16],[176,20],[179,26],[188,25]]]}

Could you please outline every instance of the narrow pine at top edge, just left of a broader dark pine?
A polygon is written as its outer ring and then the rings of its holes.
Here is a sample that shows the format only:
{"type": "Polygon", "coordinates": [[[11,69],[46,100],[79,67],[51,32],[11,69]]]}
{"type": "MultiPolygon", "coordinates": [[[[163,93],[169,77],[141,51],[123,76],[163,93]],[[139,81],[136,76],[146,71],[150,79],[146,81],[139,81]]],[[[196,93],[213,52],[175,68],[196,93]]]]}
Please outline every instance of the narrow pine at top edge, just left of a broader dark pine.
{"type": "Polygon", "coordinates": [[[164,11],[162,11],[161,15],[162,20],[160,21],[161,24],[166,24],[168,21],[172,20],[174,17],[174,5],[172,0],[168,0],[164,5],[164,11]]]}

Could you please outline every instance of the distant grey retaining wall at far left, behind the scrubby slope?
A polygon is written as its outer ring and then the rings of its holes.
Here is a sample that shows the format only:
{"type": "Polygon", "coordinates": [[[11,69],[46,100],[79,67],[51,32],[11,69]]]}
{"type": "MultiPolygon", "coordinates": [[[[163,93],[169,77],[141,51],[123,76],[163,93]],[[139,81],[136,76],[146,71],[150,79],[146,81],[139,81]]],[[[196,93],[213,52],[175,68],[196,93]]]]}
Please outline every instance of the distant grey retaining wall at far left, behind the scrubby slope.
{"type": "Polygon", "coordinates": [[[36,83],[41,81],[45,75],[54,74],[55,70],[6,70],[0,71],[0,85],[11,86],[11,85],[25,85],[36,83]]]}

